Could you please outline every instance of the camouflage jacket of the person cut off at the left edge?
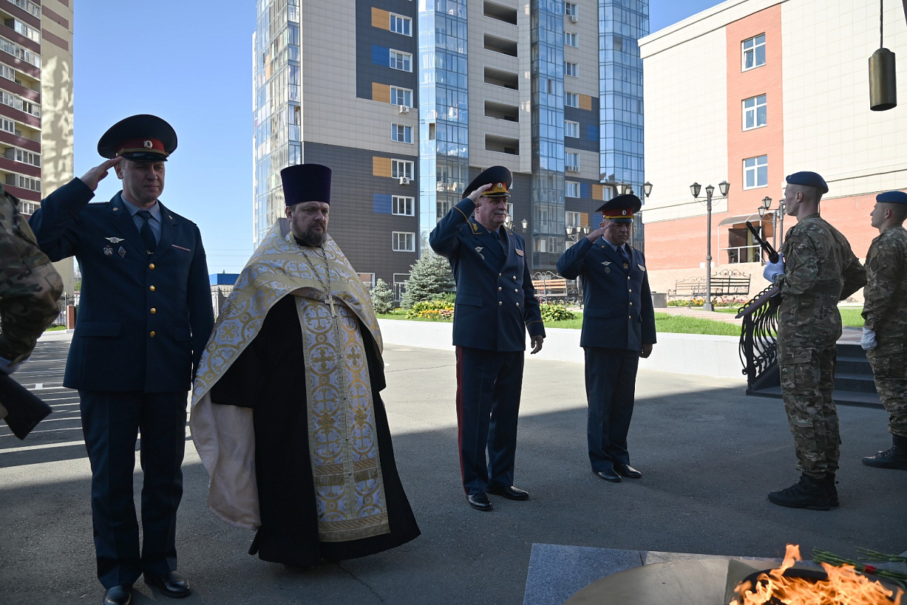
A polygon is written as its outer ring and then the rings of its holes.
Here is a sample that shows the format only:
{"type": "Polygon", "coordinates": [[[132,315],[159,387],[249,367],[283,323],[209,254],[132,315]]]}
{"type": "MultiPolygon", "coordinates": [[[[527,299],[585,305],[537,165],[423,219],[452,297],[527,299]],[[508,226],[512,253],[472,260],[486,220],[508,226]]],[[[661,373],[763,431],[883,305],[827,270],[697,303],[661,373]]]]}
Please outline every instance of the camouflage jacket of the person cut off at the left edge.
{"type": "Polygon", "coordinates": [[[0,186],[0,357],[18,363],[57,317],[63,279],[0,186]]]}

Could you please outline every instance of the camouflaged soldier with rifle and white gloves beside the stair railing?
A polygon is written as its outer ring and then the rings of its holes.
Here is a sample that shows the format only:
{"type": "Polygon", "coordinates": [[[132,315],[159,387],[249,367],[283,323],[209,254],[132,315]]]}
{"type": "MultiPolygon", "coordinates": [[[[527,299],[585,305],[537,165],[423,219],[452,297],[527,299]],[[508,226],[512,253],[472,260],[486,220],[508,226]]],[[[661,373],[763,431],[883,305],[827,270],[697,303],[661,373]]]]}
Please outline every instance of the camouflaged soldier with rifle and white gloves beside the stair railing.
{"type": "Polygon", "coordinates": [[[797,468],[793,486],[768,494],[775,504],[827,511],[838,505],[838,415],[834,406],[835,343],[841,337],[838,301],[866,283],[865,270],[847,239],[819,216],[828,185],[815,172],[787,177],[788,229],[781,258],[764,275],[783,299],[778,317],[778,366],[785,412],[794,434],[797,468]]]}

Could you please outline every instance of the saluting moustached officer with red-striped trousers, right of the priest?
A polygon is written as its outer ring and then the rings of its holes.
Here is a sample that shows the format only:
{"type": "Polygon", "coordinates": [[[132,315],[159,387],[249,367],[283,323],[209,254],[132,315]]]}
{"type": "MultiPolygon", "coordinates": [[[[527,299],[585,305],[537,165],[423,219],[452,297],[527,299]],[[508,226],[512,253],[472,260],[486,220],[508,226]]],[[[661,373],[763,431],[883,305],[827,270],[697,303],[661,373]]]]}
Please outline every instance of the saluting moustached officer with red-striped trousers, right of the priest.
{"type": "Polygon", "coordinates": [[[545,337],[525,242],[503,227],[511,185],[512,175],[503,166],[483,171],[428,239],[435,252],[450,259],[456,280],[460,468],[466,499],[479,511],[492,510],[488,493],[529,499],[529,493],[513,486],[517,416],[526,331],[532,353],[541,350],[545,337]]]}

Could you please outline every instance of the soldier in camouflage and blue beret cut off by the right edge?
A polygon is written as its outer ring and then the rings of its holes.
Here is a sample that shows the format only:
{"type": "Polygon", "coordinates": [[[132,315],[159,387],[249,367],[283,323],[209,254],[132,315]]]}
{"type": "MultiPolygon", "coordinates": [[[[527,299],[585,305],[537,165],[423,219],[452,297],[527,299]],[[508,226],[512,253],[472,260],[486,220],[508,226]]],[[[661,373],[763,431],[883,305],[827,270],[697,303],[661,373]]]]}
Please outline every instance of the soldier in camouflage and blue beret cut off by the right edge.
{"type": "Polygon", "coordinates": [[[892,448],[863,458],[863,464],[907,471],[907,193],[875,197],[873,227],[879,237],[866,253],[863,340],[875,389],[890,420],[892,448]]]}

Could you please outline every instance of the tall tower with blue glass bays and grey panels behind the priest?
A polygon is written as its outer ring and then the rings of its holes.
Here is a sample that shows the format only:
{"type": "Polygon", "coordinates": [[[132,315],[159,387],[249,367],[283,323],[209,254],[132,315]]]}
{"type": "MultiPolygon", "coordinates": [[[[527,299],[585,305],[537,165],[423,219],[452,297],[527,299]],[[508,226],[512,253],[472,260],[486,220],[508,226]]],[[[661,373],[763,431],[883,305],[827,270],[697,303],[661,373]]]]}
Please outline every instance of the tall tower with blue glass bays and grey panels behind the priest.
{"type": "Polygon", "coordinates": [[[554,269],[609,185],[642,190],[646,0],[257,6],[256,242],[283,213],[279,171],[297,162],[333,169],[331,235],[363,279],[398,294],[489,166],[513,173],[532,270],[554,269]]]}

